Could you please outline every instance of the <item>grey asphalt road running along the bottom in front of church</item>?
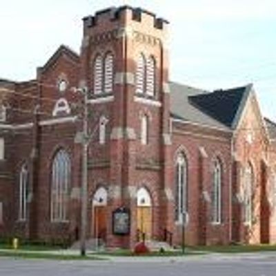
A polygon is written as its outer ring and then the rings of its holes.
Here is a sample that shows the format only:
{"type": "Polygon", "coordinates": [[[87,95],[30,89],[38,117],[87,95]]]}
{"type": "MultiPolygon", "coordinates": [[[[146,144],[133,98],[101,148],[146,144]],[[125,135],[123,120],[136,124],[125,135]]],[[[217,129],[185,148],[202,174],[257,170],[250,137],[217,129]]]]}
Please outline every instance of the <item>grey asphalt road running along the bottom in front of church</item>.
{"type": "Polygon", "coordinates": [[[113,259],[111,261],[50,261],[0,258],[3,276],[276,276],[276,253],[186,259],[113,259]]]}

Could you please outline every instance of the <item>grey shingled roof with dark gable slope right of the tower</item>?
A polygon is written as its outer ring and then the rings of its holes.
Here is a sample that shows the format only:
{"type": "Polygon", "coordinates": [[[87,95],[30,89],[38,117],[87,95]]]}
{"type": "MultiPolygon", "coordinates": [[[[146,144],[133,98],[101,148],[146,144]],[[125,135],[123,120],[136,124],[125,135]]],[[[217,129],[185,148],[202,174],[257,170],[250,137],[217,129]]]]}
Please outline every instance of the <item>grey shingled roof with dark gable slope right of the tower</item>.
{"type": "Polygon", "coordinates": [[[214,92],[170,83],[172,117],[230,130],[252,86],[214,92]]]}

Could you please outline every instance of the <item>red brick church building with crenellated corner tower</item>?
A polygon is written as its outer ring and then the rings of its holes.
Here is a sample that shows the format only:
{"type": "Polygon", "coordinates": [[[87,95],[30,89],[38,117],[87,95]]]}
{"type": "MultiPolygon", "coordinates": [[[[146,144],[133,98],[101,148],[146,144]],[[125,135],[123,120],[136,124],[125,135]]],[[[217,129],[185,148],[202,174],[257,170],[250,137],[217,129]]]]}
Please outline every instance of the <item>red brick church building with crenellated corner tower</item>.
{"type": "Polygon", "coordinates": [[[83,95],[73,88],[86,86],[88,239],[177,245],[185,220],[188,244],[276,242],[276,124],[252,84],[170,81],[167,32],[152,12],[108,8],[83,18],[80,54],[60,46],[36,79],[0,79],[1,237],[79,239],[83,95]]]}

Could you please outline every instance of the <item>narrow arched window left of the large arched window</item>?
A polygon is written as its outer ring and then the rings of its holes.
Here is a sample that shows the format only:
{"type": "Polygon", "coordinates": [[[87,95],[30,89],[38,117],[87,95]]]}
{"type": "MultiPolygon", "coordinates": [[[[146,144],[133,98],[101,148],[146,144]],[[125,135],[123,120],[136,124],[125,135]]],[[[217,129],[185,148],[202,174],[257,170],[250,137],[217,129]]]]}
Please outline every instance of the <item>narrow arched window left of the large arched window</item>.
{"type": "Polygon", "coordinates": [[[23,166],[21,166],[19,181],[19,220],[26,220],[29,192],[29,177],[26,164],[23,164],[23,166]]]}

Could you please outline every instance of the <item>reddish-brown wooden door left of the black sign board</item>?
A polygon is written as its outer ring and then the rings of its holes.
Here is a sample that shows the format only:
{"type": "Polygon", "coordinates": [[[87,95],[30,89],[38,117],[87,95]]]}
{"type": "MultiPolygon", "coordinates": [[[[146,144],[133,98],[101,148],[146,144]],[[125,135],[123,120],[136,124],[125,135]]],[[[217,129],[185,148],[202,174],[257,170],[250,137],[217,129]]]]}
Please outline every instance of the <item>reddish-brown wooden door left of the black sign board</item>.
{"type": "Polygon", "coordinates": [[[106,240],[106,206],[94,207],[94,237],[106,240]]]}

